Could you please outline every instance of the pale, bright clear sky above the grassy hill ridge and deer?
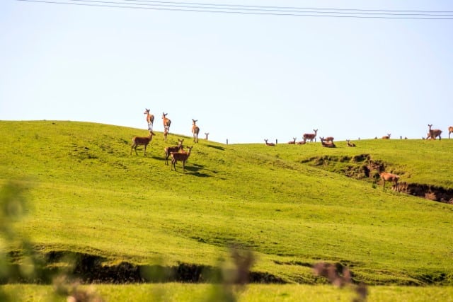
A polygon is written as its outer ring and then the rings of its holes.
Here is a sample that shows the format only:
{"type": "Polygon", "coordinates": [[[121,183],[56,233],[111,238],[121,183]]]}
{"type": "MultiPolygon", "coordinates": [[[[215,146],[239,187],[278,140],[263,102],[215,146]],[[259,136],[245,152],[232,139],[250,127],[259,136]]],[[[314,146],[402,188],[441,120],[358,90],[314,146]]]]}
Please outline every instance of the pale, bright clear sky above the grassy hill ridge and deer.
{"type": "Polygon", "coordinates": [[[195,119],[200,137],[229,144],[301,141],[314,129],[336,141],[421,139],[428,124],[448,138],[453,126],[452,1],[178,1],[448,11],[448,20],[66,2],[0,1],[0,120],[97,122],[146,135],[149,108],[156,132],[165,112],[172,134],[190,136],[195,119]]]}

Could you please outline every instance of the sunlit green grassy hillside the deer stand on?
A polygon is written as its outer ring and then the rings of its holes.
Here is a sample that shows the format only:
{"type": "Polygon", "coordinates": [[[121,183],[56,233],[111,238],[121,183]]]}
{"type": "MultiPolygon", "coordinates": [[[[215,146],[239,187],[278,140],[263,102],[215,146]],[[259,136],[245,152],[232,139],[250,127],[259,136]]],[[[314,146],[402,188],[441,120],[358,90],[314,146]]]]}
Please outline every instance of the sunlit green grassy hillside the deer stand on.
{"type": "Polygon", "coordinates": [[[31,187],[33,214],[21,229],[42,251],[113,262],[216,265],[236,243],[256,252],[255,270],[288,281],[314,281],[300,264],[331,260],[368,282],[445,273],[453,283],[451,205],[300,163],[369,153],[404,171],[404,180],[453,187],[453,141],[362,140],[355,149],[323,149],[200,140],[185,173],[180,165],[175,173],[163,149],[181,136],[169,135],[166,144],[159,132],[147,157],[130,156],[130,139],[146,134],[83,122],[0,122],[0,178],[31,187]]]}

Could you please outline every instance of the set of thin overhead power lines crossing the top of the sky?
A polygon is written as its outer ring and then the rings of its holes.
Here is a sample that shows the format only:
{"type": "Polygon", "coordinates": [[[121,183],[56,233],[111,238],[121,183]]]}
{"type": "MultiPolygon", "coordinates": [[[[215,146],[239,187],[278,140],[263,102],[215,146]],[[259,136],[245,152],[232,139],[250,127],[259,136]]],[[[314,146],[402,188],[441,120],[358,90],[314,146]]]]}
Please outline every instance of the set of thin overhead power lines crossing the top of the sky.
{"type": "Polygon", "coordinates": [[[156,11],[188,11],[203,13],[236,13],[246,15],[268,16],[308,16],[331,18],[384,18],[384,19],[418,19],[418,20],[453,20],[453,11],[391,11],[365,10],[346,8],[295,8],[279,6],[240,6],[229,4],[194,4],[171,1],[96,1],[96,0],[16,0],[45,4],[64,4],[76,6],[95,6],[107,8],[132,8],[156,11]],[[129,1],[129,2],[125,2],[129,1]],[[137,3],[131,3],[131,2],[137,3]],[[145,4],[142,4],[142,3],[145,4]],[[132,5],[132,6],[131,6],[132,5]],[[219,8],[217,8],[219,7],[219,8]],[[329,10],[329,11],[326,11],[329,10]],[[381,13],[378,13],[381,12],[381,13]],[[442,14],[440,14],[442,13],[442,14]]]}

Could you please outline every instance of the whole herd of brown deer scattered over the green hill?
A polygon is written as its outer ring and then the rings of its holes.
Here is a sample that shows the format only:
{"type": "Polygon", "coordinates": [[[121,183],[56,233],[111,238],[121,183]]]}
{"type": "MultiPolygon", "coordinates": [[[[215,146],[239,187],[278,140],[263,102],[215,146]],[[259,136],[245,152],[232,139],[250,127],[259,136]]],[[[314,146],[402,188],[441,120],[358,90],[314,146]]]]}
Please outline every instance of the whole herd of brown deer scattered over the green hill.
{"type": "MultiPolygon", "coordinates": [[[[156,136],[156,134],[153,132],[153,124],[154,124],[154,115],[150,113],[150,110],[145,108],[145,111],[143,112],[144,115],[147,115],[147,124],[148,124],[148,131],[149,135],[148,137],[133,137],[132,138],[132,146],[130,149],[130,154],[132,155],[132,150],[135,151],[135,154],[138,155],[137,153],[137,146],[143,146],[143,155],[147,155],[147,146],[149,143],[152,141],[153,137],[156,136]]],[[[167,140],[168,133],[170,132],[170,125],[171,125],[171,120],[168,119],[167,117],[168,113],[162,112],[162,124],[164,125],[164,141],[167,140]]],[[[196,144],[198,142],[198,134],[200,134],[200,127],[197,126],[197,121],[192,119],[192,134],[193,134],[193,142],[196,144]]],[[[302,134],[302,141],[297,141],[296,137],[292,138],[292,141],[288,141],[287,144],[292,144],[292,145],[303,145],[308,142],[315,141],[316,142],[316,135],[318,133],[318,129],[313,129],[312,133],[304,133],[302,134]]],[[[450,135],[453,133],[453,126],[448,127],[448,138],[450,139],[450,135]]],[[[422,139],[436,139],[439,137],[439,139],[442,139],[440,135],[442,134],[442,130],[440,129],[432,129],[432,124],[428,124],[428,134],[425,137],[422,137],[422,139]]],[[[208,139],[209,133],[205,132],[205,139],[208,139]]],[[[390,139],[391,134],[388,133],[382,139],[390,139]]],[[[336,148],[336,144],[333,143],[333,137],[319,137],[321,141],[321,146],[326,147],[326,148],[336,148]]],[[[377,139],[377,137],[375,137],[377,139]]],[[[401,137],[402,139],[402,137],[401,137]]],[[[407,139],[407,138],[405,138],[407,139]]],[[[193,146],[187,147],[187,151],[184,150],[183,147],[183,141],[184,139],[178,139],[178,145],[177,146],[166,146],[164,148],[164,156],[165,156],[165,163],[168,165],[168,158],[171,158],[171,170],[176,171],[176,163],[180,161],[183,163],[183,170],[185,170],[185,162],[188,160],[190,156],[190,152],[193,149],[193,146]]],[[[265,145],[266,146],[277,146],[277,141],[275,143],[269,142],[268,139],[265,139],[265,145]]],[[[346,146],[347,147],[355,147],[356,145],[352,143],[349,139],[346,139],[346,146]]],[[[380,172],[379,173],[379,178],[382,180],[383,183],[383,188],[385,188],[385,182],[391,182],[393,184],[393,188],[398,190],[398,180],[399,176],[396,174],[392,173],[387,173],[387,172],[380,172]]]]}

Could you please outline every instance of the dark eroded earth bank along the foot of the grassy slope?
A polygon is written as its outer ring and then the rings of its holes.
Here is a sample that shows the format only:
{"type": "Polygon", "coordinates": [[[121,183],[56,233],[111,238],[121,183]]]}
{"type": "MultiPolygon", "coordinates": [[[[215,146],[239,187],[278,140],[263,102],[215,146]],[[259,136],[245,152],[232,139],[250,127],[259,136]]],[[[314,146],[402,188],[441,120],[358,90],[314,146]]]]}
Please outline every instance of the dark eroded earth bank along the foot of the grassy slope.
{"type": "MultiPolygon", "coordinates": [[[[19,260],[20,255],[11,255],[19,260]]],[[[214,283],[218,282],[222,271],[219,267],[180,263],[173,266],[134,265],[120,262],[117,265],[104,265],[108,259],[80,252],[53,251],[41,258],[40,267],[35,267],[33,276],[24,277],[18,264],[8,267],[10,276],[1,279],[0,284],[11,282],[30,284],[51,284],[59,274],[65,274],[81,283],[132,284],[156,282],[214,283]]],[[[284,284],[280,277],[267,272],[248,272],[248,281],[263,284],[284,284]]]]}

